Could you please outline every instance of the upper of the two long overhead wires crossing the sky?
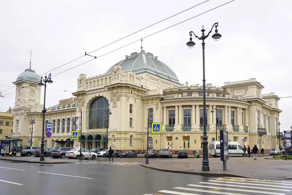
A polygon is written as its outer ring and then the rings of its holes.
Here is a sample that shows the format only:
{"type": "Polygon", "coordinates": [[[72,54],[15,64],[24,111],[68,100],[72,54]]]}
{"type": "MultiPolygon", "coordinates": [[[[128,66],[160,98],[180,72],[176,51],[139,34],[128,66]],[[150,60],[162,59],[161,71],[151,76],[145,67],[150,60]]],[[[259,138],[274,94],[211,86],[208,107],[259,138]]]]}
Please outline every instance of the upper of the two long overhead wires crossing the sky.
{"type": "MultiPolygon", "coordinates": [[[[114,42],[112,42],[112,43],[110,43],[110,44],[107,44],[107,45],[105,45],[105,46],[102,46],[102,47],[100,47],[99,49],[96,49],[96,50],[94,50],[94,51],[91,51],[91,52],[88,53],[88,54],[91,54],[91,53],[93,53],[93,52],[95,52],[95,51],[98,51],[98,50],[100,50],[100,49],[102,49],[102,48],[105,48],[106,46],[109,46],[109,45],[111,45],[111,44],[114,44],[114,43],[116,43],[116,42],[118,42],[118,41],[120,41],[120,40],[122,40],[122,39],[125,39],[125,38],[127,38],[127,37],[129,37],[129,36],[131,36],[131,35],[133,35],[133,34],[135,34],[135,33],[137,33],[137,32],[140,32],[140,31],[142,31],[142,30],[145,30],[145,29],[147,29],[147,28],[149,28],[149,27],[151,27],[151,26],[154,26],[154,25],[156,25],[156,24],[158,24],[158,23],[161,23],[161,22],[163,22],[163,21],[165,21],[165,20],[167,20],[167,19],[169,19],[169,18],[172,18],[172,17],[178,15],[178,14],[181,14],[181,13],[183,13],[183,12],[185,12],[185,11],[188,11],[188,10],[194,8],[194,7],[197,7],[197,6],[201,5],[201,4],[204,4],[204,3],[206,3],[207,1],[210,1],[210,0],[206,0],[206,1],[202,2],[202,3],[200,3],[200,4],[197,4],[197,5],[195,5],[195,6],[192,6],[191,8],[188,8],[188,9],[186,9],[186,10],[184,10],[184,11],[181,11],[180,13],[177,13],[177,14],[175,14],[175,15],[172,15],[172,16],[168,17],[168,18],[165,18],[164,20],[161,20],[161,21],[159,21],[159,22],[157,22],[157,23],[154,23],[154,24],[152,24],[152,25],[150,25],[150,26],[147,26],[147,27],[145,27],[145,28],[143,28],[143,29],[141,29],[141,30],[138,30],[138,31],[136,31],[136,32],[134,32],[134,33],[132,33],[132,34],[129,34],[129,35],[126,36],[126,37],[123,37],[123,38],[121,38],[121,39],[118,39],[117,41],[114,41],[114,42]]],[[[82,58],[82,57],[84,57],[84,56],[81,56],[81,57],[79,57],[79,58],[76,58],[75,60],[72,60],[72,61],[70,61],[70,62],[68,62],[68,63],[63,64],[63,65],[60,65],[60,66],[58,66],[57,68],[54,68],[54,69],[52,69],[52,70],[49,70],[48,72],[51,72],[51,71],[53,71],[53,70],[56,70],[56,69],[58,69],[58,68],[60,68],[60,67],[62,67],[62,66],[65,66],[65,65],[67,65],[67,64],[69,64],[69,63],[71,63],[71,62],[74,62],[74,61],[76,61],[76,60],[78,60],[78,59],[80,59],[80,58],[82,58]]],[[[46,72],[46,73],[48,73],[48,72],[46,72]]],[[[44,74],[46,74],[46,73],[43,73],[43,74],[41,74],[41,75],[44,75],[44,74]]],[[[34,78],[30,79],[30,80],[33,80],[33,79],[35,79],[35,78],[37,78],[37,77],[34,77],[34,78]]],[[[30,80],[28,80],[28,81],[30,81],[30,80]]],[[[11,87],[11,88],[9,88],[9,89],[12,89],[12,88],[13,88],[13,87],[11,87]]],[[[7,91],[7,90],[9,90],[9,89],[4,90],[3,92],[5,92],[5,91],[7,91]]]]}

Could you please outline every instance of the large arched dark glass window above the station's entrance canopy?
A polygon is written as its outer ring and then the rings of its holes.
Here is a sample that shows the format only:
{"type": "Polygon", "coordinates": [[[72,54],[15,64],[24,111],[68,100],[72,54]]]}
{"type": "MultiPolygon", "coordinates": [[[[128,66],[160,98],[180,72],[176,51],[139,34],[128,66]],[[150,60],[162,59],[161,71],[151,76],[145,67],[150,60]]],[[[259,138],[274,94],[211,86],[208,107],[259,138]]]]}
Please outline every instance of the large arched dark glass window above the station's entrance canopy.
{"type": "Polygon", "coordinates": [[[98,97],[93,100],[89,106],[89,129],[105,129],[107,126],[107,115],[109,102],[104,97],[98,97]]]}

